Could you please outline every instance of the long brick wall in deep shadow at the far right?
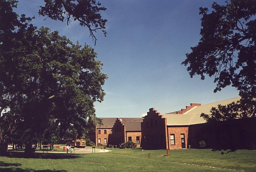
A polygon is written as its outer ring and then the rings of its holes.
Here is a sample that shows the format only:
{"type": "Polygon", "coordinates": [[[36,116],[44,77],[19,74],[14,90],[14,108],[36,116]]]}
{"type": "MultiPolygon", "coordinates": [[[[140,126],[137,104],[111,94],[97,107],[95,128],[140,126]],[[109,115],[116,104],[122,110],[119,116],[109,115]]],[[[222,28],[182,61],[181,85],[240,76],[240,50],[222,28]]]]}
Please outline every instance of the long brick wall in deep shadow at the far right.
{"type": "Polygon", "coordinates": [[[256,118],[233,119],[189,126],[191,148],[256,149],[256,118]]]}

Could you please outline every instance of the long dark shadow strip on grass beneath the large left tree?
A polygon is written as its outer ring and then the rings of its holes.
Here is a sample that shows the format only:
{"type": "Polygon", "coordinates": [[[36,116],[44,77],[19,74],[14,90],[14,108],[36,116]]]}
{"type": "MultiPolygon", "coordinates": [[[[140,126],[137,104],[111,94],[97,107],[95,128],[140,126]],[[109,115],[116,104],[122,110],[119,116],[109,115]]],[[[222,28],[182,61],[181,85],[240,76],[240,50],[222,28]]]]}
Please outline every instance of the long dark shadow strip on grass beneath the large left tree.
{"type": "Polygon", "coordinates": [[[25,155],[24,152],[10,152],[7,155],[9,158],[40,158],[40,159],[74,159],[80,158],[80,154],[64,154],[64,153],[34,153],[32,155],[25,155]]]}

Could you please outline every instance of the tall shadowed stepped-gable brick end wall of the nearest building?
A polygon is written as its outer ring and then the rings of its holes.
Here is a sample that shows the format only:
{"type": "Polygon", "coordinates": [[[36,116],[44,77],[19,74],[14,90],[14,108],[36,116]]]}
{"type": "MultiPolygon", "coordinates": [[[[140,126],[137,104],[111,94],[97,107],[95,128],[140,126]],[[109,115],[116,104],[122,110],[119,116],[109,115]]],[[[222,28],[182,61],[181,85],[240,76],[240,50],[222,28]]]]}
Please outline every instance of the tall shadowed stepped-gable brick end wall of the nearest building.
{"type": "Polygon", "coordinates": [[[163,118],[154,108],[149,109],[149,112],[143,118],[141,123],[141,147],[143,149],[168,148],[166,118],[163,118]]]}

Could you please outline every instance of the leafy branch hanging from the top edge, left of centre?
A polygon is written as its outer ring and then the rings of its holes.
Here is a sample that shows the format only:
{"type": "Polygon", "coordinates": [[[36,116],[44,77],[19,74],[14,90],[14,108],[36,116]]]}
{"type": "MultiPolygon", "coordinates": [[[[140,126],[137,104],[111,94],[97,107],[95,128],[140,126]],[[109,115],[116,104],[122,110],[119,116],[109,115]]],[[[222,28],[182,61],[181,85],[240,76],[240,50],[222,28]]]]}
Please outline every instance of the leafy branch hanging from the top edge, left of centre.
{"type": "Polygon", "coordinates": [[[108,20],[102,19],[101,12],[107,8],[102,7],[101,3],[95,0],[45,0],[45,5],[40,6],[39,14],[47,16],[53,20],[67,20],[70,23],[70,17],[74,21],[78,20],[81,26],[86,26],[90,31],[90,36],[96,44],[94,33],[100,30],[106,36],[105,24],[108,20]]]}

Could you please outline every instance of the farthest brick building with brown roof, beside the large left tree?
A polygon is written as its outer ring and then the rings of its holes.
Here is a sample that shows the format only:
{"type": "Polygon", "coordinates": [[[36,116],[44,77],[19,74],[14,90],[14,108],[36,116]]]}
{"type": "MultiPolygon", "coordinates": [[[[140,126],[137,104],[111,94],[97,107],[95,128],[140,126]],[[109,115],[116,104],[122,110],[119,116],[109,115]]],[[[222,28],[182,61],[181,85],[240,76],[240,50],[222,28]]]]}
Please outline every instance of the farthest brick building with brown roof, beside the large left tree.
{"type": "MultiPolygon", "coordinates": [[[[112,135],[113,125],[116,122],[116,118],[100,118],[102,119],[101,126],[94,126],[93,130],[89,131],[89,138],[93,143],[108,145],[110,144],[110,138],[112,135]]],[[[122,118],[124,122],[142,122],[143,118],[122,118]]]]}

